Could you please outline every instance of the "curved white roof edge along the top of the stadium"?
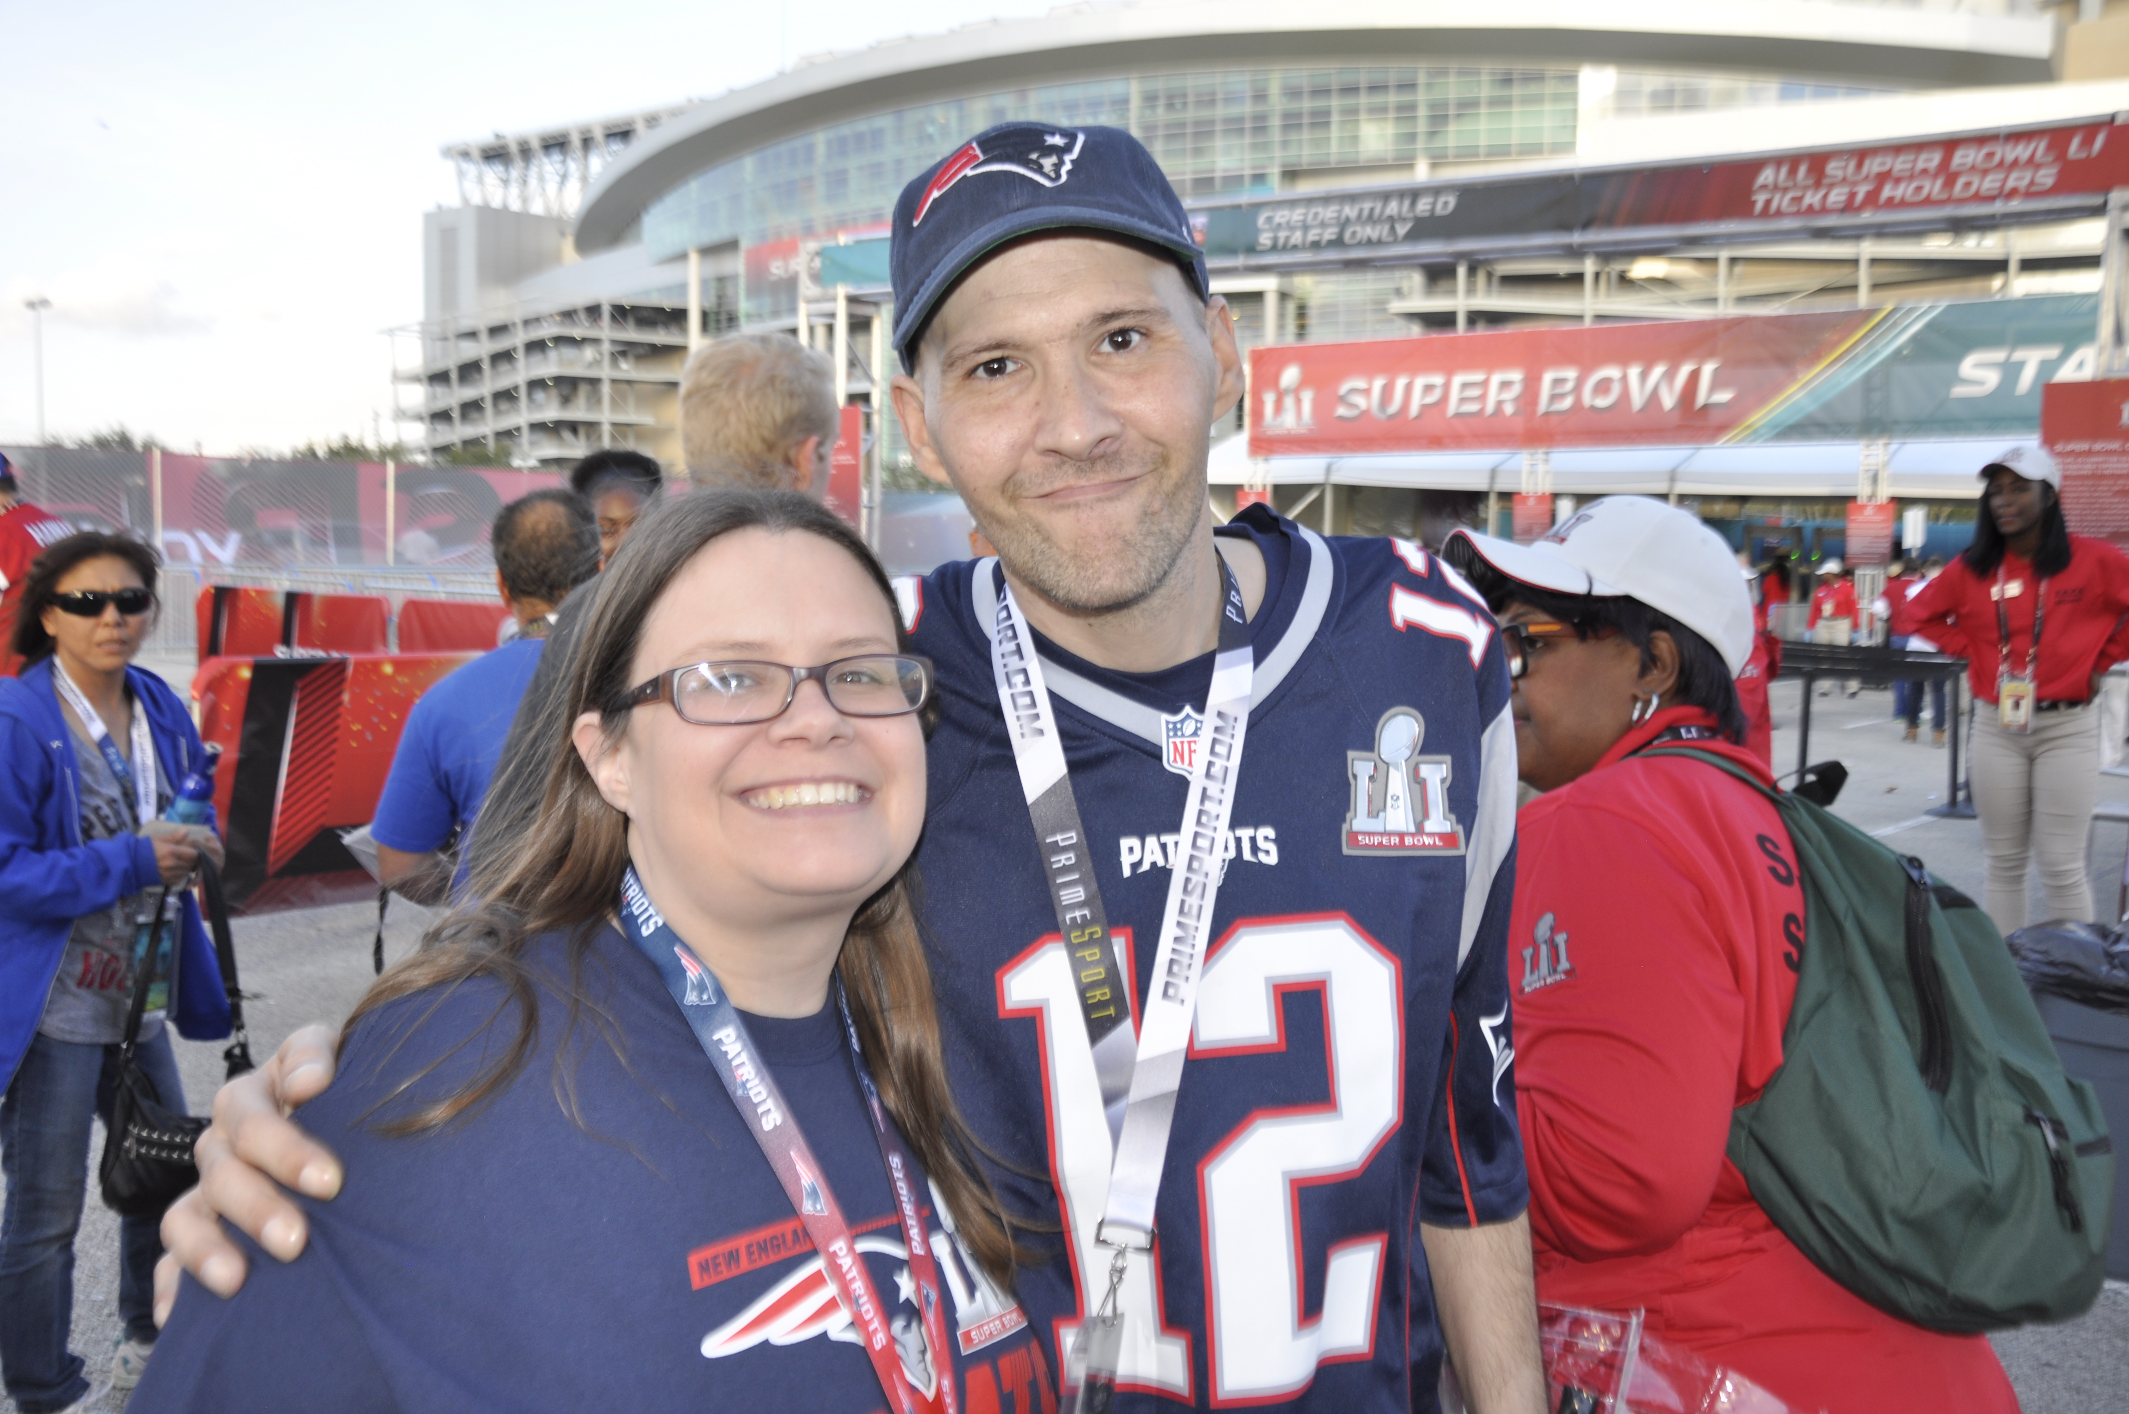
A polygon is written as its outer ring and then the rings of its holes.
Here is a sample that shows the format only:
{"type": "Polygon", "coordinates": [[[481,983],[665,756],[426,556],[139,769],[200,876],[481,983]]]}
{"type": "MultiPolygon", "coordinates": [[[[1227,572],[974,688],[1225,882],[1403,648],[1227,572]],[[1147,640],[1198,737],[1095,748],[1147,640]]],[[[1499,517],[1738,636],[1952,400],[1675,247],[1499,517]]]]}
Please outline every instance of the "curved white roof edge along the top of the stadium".
{"type": "Polygon", "coordinates": [[[801,60],[643,134],[583,198],[577,249],[756,147],[869,113],[1130,70],[1307,64],[1620,64],[1827,83],[1969,87],[2052,77],[2054,21],[1831,0],[1152,0],[1064,4],[801,60]]]}

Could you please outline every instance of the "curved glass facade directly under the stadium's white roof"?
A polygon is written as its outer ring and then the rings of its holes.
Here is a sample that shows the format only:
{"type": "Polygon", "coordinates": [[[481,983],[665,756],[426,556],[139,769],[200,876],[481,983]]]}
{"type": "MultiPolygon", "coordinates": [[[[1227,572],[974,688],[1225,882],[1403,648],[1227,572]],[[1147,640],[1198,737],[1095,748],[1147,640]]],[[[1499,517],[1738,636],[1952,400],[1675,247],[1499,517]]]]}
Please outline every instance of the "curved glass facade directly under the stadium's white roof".
{"type": "Polygon", "coordinates": [[[1126,128],[1186,198],[1273,192],[1301,170],[1571,153],[1575,79],[1571,68],[1252,68],[956,98],[707,168],[643,213],[643,243],[669,260],[884,224],[905,181],[1005,121],[1126,128]]]}

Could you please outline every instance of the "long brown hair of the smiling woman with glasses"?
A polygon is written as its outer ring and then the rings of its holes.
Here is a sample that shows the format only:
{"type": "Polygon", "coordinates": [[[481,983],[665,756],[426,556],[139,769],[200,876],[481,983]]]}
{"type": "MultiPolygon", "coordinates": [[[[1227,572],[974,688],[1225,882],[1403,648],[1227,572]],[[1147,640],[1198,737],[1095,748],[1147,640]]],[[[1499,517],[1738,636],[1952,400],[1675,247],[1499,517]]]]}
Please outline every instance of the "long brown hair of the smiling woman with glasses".
{"type": "MultiPolygon", "coordinates": [[[[698,490],[647,513],[607,569],[577,639],[562,722],[598,711],[607,741],[620,739],[628,722],[626,692],[634,686],[630,667],[651,607],[705,545],[749,528],[815,535],[849,554],[879,586],[879,596],[894,613],[896,637],[907,643],[886,573],[835,513],[796,492],[698,490]]],[[[930,720],[926,713],[926,735],[930,720]]],[[[424,939],[422,952],[379,977],[349,1016],[351,1029],[360,1016],[398,997],[494,977],[509,988],[496,1016],[515,1003],[517,1033],[471,1082],[385,1124],[387,1133],[424,1133],[449,1124],[483,1105],[524,1069],[532,1052],[539,992],[556,990],[554,980],[534,977],[524,963],[526,946],[543,933],[571,935],[571,977],[562,992],[571,1024],[592,1014],[607,1043],[622,1054],[622,1029],[583,986],[581,967],[622,888],[628,818],[598,794],[566,735],[541,741],[539,750],[549,756],[539,820],[483,856],[473,877],[473,894],[483,903],[447,916],[424,939]]],[[[858,909],[843,939],[837,975],[849,997],[849,1014],[881,1101],[945,1197],[962,1242],[994,1280],[1009,1284],[1024,1252],[947,1090],[939,1012],[913,907],[915,886],[915,862],[909,860],[858,909]]],[[[564,1043],[556,1056],[556,1099],[577,1118],[575,1086],[560,1069],[566,1050],[564,1043]]],[[[413,1080],[400,1084],[394,1097],[411,1084],[413,1080]]]]}

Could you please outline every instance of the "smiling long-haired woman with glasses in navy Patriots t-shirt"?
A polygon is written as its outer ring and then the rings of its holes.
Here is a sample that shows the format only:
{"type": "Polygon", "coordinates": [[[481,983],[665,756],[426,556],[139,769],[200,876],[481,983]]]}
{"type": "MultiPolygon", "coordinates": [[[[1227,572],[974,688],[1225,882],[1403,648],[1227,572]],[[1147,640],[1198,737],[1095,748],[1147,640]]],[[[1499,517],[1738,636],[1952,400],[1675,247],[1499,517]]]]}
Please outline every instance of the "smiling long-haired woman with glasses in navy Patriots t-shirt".
{"type": "Polygon", "coordinates": [[[302,1109],[341,1197],[234,1299],[185,1282],[136,1414],[1054,1405],[939,1054],[930,664],[871,552],[792,492],[662,505],[566,701],[485,903],[302,1109]]]}

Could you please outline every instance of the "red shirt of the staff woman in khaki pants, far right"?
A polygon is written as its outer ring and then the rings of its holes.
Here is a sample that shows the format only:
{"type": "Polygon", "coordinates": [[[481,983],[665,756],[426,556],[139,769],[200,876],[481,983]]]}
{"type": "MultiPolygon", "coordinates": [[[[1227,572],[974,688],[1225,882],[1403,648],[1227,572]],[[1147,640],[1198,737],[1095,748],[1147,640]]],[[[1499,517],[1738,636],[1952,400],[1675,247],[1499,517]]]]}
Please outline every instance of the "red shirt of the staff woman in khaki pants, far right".
{"type": "MultiPolygon", "coordinates": [[[[1995,615],[1999,575],[1976,575],[1959,556],[1944,573],[1893,609],[1893,632],[1922,635],[1954,658],[1967,660],[1974,696],[1997,701],[1995,615]]],[[[2025,671],[2033,650],[2033,605],[2040,579],[2014,554],[2003,556],[2003,618],[2010,620],[2010,667],[2025,671]]],[[[2048,577],[2048,618],[2040,628],[2040,701],[2082,703],[2093,675],[2129,658],[2129,556],[2106,541],[2069,537],[2069,569],[2048,577]]]]}

